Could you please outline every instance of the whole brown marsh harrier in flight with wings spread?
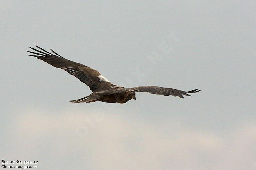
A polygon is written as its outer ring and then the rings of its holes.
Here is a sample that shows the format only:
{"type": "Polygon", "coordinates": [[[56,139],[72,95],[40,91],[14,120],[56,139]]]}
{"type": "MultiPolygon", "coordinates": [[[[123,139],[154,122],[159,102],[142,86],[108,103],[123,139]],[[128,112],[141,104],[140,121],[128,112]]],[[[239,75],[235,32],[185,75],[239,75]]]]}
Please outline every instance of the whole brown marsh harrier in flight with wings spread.
{"type": "Polygon", "coordinates": [[[89,96],[70,101],[73,103],[90,103],[95,101],[102,101],[107,103],[126,103],[131,99],[136,100],[136,92],[149,92],[151,94],[159,94],[164,96],[172,95],[184,98],[183,95],[190,96],[188,93],[196,93],[200,91],[198,89],[191,91],[182,91],[158,86],[140,86],[125,88],[122,86],[113,85],[97,70],[94,70],[83,64],[67,60],[54,52],[52,49],[52,53],[50,53],[38,46],[36,47],[38,49],[30,47],[34,51],[27,51],[33,54],[29,56],[36,57],[54,67],[67,71],[69,74],[75,76],[81,82],[88,85],[90,90],[92,90],[93,93],[89,96]]]}

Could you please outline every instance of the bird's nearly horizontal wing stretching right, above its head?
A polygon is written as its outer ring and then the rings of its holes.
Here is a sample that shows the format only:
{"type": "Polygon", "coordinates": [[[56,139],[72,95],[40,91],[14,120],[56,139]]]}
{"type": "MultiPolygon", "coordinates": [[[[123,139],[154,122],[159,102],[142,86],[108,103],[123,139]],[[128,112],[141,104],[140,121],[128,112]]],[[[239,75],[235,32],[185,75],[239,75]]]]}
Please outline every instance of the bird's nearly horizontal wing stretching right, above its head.
{"type": "Polygon", "coordinates": [[[177,90],[172,88],[165,88],[165,87],[157,87],[157,86],[140,86],[140,87],[132,87],[132,88],[112,88],[102,92],[103,95],[115,94],[115,93],[123,93],[123,92],[148,92],[151,94],[159,94],[164,96],[179,96],[180,98],[184,98],[185,96],[190,96],[188,93],[196,93],[200,90],[194,89],[191,91],[183,91],[177,90]]]}

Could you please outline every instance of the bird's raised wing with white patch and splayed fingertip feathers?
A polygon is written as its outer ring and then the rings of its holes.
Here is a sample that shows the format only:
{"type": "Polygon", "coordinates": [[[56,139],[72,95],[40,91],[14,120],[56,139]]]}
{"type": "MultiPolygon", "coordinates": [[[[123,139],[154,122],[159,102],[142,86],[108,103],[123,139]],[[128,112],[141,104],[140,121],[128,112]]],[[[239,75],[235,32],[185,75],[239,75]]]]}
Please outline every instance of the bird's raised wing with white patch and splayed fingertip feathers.
{"type": "Polygon", "coordinates": [[[103,77],[97,70],[94,70],[83,64],[67,60],[54,52],[52,49],[51,51],[53,54],[44,50],[43,48],[38,46],[36,47],[38,49],[30,47],[34,51],[27,51],[33,54],[29,56],[36,57],[48,64],[51,64],[54,67],[67,71],[69,74],[75,76],[81,82],[88,85],[93,92],[107,90],[113,86],[113,84],[110,83],[105,77],[103,77]]]}

